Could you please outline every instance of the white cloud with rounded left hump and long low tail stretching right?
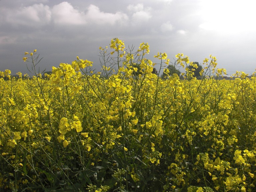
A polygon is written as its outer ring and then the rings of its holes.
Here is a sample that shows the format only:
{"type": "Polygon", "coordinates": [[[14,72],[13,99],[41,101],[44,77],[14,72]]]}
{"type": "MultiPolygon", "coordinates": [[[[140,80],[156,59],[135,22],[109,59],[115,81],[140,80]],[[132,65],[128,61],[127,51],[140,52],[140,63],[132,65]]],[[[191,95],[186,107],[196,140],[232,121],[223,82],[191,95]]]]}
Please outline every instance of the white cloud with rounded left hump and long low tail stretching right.
{"type": "Polygon", "coordinates": [[[128,20],[128,16],[122,12],[105,13],[100,11],[99,7],[90,5],[88,12],[86,13],[86,19],[88,22],[95,24],[110,24],[125,23],[128,20]]]}

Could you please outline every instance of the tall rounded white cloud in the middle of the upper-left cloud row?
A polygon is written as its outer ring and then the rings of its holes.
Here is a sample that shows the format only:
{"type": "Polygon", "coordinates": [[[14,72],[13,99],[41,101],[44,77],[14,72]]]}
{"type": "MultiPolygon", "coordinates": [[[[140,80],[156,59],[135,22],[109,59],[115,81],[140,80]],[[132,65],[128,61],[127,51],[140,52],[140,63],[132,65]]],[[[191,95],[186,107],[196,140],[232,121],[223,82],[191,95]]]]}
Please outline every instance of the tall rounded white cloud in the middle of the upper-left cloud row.
{"type": "Polygon", "coordinates": [[[86,24],[86,17],[83,12],[75,9],[70,3],[62,2],[52,8],[52,18],[57,24],[86,24]]]}

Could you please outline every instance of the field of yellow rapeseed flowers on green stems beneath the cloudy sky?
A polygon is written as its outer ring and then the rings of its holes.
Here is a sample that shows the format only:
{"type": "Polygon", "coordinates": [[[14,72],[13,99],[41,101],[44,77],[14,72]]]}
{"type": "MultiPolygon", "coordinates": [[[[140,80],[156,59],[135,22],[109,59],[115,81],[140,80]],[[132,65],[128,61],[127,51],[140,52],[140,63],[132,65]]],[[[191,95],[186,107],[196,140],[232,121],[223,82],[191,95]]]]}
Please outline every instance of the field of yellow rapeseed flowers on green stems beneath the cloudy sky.
{"type": "Polygon", "coordinates": [[[34,76],[0,72],[1,191],[255,191],[255,77],[218,80],[210,55],[197,80],[177,54],[186,78],[163,80],[166,53],[110,48],[101,72],[77,57],[42,76],[36,50],[23,58],[34,76]]]}

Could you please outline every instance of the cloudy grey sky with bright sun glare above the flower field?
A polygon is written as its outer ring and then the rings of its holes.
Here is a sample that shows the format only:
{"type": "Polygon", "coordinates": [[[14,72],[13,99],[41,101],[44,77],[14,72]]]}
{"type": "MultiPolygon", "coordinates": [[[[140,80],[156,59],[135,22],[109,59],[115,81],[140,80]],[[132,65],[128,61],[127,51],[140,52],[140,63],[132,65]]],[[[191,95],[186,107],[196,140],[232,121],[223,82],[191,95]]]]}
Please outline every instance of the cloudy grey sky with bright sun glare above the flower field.
{"type": "Polygon", "coordinates": [[[100,70],[99,46],[112,38],[137,49],[148,43],[146,58],[166,52],[202,63],[210,54],[228,74],[256,68],[254,0],[0,0],[0,71],[27,73],[24,52],[43,57],[50,71],[79,56],[100,70]]]}

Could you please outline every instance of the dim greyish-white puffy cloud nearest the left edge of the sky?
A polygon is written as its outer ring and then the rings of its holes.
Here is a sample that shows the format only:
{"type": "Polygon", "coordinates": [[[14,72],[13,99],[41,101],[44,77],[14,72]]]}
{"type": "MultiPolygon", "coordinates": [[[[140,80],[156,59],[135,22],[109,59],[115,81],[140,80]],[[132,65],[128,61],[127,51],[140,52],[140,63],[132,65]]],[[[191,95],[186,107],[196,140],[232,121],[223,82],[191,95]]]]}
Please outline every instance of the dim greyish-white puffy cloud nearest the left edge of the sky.
{"type": "Polygon", "coordinates": [[[6,20],[14,25],[42,26],[51,20],[51,11],[48,5],[34,4],[22,7],[19,11],[7,10],[6,20]]]}

